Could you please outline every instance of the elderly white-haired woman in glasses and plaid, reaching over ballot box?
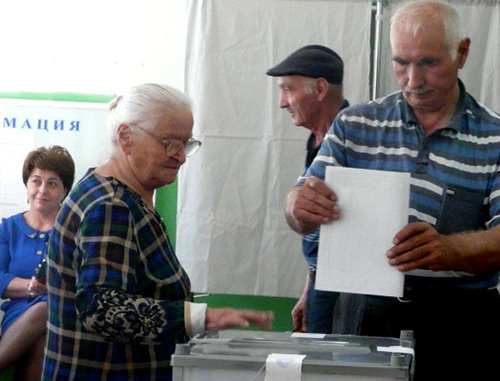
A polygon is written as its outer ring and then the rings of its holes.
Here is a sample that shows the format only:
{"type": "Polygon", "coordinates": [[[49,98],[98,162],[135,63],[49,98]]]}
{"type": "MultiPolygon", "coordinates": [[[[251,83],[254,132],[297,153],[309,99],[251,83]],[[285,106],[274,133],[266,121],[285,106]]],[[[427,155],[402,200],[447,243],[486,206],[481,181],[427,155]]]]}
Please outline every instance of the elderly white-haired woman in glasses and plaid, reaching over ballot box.
{"type": "Polygon", "coordinates": [[[44,380],[169,380],[175,344],[273,315],[191,302],[188,275],[154,208],[201,143],[187,97],[133,87],[110,104],[113,151],[64,203],[48,250],[44,380]]]}

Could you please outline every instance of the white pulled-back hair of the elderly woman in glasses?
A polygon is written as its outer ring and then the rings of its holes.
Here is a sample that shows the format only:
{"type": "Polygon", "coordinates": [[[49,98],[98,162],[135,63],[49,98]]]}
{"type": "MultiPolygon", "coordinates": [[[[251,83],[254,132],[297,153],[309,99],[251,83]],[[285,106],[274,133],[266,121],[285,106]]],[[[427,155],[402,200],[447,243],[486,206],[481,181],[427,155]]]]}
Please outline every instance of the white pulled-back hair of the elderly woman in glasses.
{"type": "Polygon", "coordinates": [[[171,86],[144,83],[115,97],[108,108],[108,129],[113,146],[116,146],[116,132],[121,124],[151,129],[165,115],[165,110],[191,110],[191,100],[171,86]]]}

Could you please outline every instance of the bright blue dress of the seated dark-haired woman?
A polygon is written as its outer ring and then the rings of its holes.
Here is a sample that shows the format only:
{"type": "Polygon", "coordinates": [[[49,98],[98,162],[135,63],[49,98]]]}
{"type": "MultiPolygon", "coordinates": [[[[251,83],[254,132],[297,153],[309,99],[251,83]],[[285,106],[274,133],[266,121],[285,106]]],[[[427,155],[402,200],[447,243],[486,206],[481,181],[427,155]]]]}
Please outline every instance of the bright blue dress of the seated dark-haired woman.
{"type": "MultiPolygon", "coordinates": [[[[0,223],[0,296],[15,277],[31,278],[45,257],[50,231],[38,231],[23,218],[24,213],[2,218],[0,223]]],[[[35,303],[47,301],[47,295],[8,299],[2,304],[2,332],[35,303]]]]}

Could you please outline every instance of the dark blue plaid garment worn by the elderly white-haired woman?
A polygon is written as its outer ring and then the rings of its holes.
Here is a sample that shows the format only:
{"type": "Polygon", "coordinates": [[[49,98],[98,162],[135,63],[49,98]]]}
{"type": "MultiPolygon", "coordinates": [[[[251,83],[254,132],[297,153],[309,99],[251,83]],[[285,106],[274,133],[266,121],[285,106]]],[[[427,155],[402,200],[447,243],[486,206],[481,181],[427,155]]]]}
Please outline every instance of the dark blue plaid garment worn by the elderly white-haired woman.
{"type": "Polygon", "coordinates": [[[131,188],[89,170],[48,249],[43,380],[168,380],[186,338],[190,281],[161,217],[131,188]]]}

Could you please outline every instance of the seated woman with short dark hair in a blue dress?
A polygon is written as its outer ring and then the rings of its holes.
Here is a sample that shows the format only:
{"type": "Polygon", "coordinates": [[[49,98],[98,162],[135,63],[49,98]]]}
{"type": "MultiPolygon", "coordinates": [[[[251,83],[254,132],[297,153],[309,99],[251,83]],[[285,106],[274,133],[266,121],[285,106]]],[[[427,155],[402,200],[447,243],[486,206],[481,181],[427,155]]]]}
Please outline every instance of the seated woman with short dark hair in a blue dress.
{"type": "Polygon", "coordinates": [[[39,380],[47,323],[47,289],[33,275],[45,258],[49,234],[75,175],[75,164],[60,146],[40,147],[23,165],[29,210],[0,223],[2,337],[0,369],[16,364],[16,379],[39,380]]]}

